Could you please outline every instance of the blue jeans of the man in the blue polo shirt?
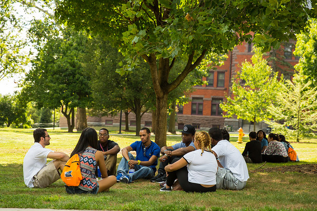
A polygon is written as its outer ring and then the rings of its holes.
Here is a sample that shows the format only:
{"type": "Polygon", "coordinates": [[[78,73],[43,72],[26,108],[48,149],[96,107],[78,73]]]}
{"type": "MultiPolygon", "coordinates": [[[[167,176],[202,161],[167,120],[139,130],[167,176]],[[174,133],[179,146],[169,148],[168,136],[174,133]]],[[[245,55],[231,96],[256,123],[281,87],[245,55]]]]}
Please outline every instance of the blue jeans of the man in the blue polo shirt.
{"type": "MultiPolygon", "coordinates": [[[[129,159],[134,160],[135,158],[131,153],[128,153],[129,159]]],[[[141,178],[152,178],[155,175],[154,170],[151,167],[145,167],[141,165],[134,165],[135,171],[133,173],[128,173],[129,172],[129,165],[128,161],[123,157],[122,160],[119,163],[118,169],[117,169],[117,174],[119,172],[123,173],[123,175],[127,175],[130,177],[130,181],[134,181],[137,179],[141,178]]]]}

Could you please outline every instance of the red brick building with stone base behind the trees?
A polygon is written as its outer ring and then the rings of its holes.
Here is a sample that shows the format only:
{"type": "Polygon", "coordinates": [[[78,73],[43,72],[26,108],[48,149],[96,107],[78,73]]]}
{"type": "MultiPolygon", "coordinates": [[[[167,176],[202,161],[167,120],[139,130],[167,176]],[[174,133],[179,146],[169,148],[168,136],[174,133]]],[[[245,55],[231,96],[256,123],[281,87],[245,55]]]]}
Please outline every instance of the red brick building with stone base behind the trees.
{"type": "MultiPolygon", "coordinates": [[[[272,50],[271,55],[277,59],[269,61],[274,71],[278,71],[289,79],[293,75],[293,66],[297,64],[296,58],[292,51],[294,50],[295,41],[281,44],[278,50],[272,50]],[[287,65],[287,63],[289,65],[287,65]]],[[[237,45],[232,51],[228,53],[228,58],[220,67],[215,70],[210,70],[209,77],[203,78],[208,81],[208,85],[195,86],[195,90],[190,94],[189,103],[184,106],[178,106],[176,129],[182,129],[185,124],[191,124],[197,129],[208,130],[210,127],[227,127],[230,130],[237,130],[243,127],[245,131],[253,128],[253,123],[247,121],[223,118],[221,115],[220,102],[227,94],[230,94],[231,79],[235,73],[240,70],[240,65],[245,60],[251,61],[253,55],[253,45],[244,42],[237,45]],[[252,126],[251,126],[252,125],[252,126]]],[[[125,116],[122,115],[122,124],[125,116]]],[[[114,118],[111,117],[88,117],[88,125],[100,126],[118,126],[119,114],[114,118]]],[[[135,115],[131,112],[129,114],[130,126],[135,126],[135,115]]],[[[151,127],[152,115],[145,114],[142,117],[141,125],[151,127]]],[[[60,127],[67,127],[67,123],[63,117],[60,119],[60,127]]],[[[264,123],[256,123],[257,129],[266,129],[264,123]]]]}

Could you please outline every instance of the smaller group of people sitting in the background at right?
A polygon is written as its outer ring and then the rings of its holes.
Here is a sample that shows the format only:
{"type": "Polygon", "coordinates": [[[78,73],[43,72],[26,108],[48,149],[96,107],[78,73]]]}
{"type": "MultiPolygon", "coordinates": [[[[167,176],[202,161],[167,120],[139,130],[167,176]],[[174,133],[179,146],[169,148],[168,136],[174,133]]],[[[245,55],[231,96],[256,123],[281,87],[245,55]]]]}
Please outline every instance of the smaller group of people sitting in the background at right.
{"type": "MultiPolygon", "coordinates": [[[[285,140],[284,135],[269,133],[263,130],[249,133],[250,141],[246,143],[242,153],[246,163],[262,163],[264,161],[270,163],[286,163],[289,161],[288,149],[291,144],[285,140]]],[[[298,156],[296,161],[299,161],[298,156]]]]}

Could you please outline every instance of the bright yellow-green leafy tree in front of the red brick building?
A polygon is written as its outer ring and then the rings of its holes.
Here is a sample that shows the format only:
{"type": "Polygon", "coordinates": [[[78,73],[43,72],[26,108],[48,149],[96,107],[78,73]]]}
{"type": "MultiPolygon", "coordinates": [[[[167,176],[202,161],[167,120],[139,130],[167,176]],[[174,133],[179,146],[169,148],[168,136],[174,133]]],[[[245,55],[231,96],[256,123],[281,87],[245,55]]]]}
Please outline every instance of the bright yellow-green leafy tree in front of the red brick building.
{"type": "Polygon", "coordinates": [[[220,104],[223,117],[236,116],[237,119],[254,123],[270,117],[267,108],[277,100],[276,94],[280,87],[278,73],[272,72],[259,48],[254,51],[252,62],[243,62],[241,71],[237,72],[232,81],[232,96],[227,96],[220,104]]]}

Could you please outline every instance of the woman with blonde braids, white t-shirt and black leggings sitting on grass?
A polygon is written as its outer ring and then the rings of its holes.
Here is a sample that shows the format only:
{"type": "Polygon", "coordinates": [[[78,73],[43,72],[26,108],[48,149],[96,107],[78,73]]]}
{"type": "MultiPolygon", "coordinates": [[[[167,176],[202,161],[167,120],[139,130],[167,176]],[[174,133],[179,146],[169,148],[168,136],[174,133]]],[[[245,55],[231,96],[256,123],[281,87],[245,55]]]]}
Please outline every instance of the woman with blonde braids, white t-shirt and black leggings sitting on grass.
{"type": "Polygon", "coordinates": [[[160,191],[171,191],[176,178],[186,192],[211,192],[216,190],[217,161],[211,153],[211,139],[207,132],[195,134],[197,150],[175,158],[165,167],[167,180],[160,191]]]}

